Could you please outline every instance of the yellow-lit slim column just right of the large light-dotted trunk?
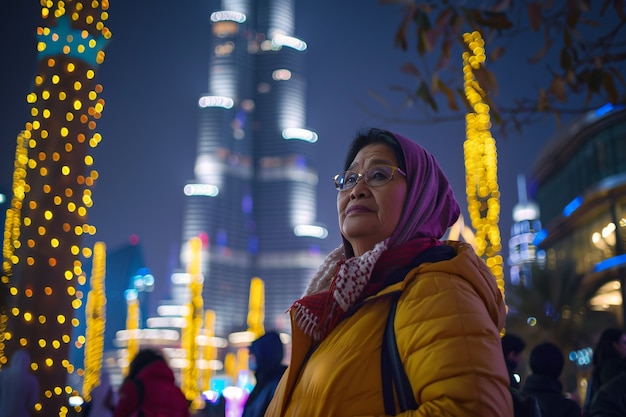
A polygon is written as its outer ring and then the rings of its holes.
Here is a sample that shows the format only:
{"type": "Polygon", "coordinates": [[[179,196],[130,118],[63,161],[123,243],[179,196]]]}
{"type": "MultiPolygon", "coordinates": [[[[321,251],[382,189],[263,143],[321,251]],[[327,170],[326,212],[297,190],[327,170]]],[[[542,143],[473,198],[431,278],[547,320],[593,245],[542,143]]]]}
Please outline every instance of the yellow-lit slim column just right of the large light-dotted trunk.
{"type": "Polygon", "coordinates": [[[106,324],[105,276],[106,245],[103,242],[97,242],[93,251],[91,290],[87,294],[87,306],[85,308],[87,328],[85,331],[83,397],[86,401],[91,399],[91,390],[100,385],[100,370],[102,369],[102,354],[104,352],[104,326],[106,324]]]}

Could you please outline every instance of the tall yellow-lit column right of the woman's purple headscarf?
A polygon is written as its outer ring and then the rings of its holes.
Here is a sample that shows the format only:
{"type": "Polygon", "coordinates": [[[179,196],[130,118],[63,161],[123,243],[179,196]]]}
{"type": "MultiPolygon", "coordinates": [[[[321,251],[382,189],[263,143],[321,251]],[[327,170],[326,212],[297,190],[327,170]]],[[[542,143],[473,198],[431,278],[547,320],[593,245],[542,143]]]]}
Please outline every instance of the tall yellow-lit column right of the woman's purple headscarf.
{"type": "Polygon", "coordinates": [[[474,76],[474,71],[481,69],[485,62],[485,42],[478,32],[465,33],[463,41],[470,51],[463,53],[465,95],[474,110],[465,118],[466,139],[463,145],[468,211],[476,230],[476,252],[485,259],[504,296],[502,244],[498,228],[500,191],[496,141],[491,136],[486,93],[474,76]]]}

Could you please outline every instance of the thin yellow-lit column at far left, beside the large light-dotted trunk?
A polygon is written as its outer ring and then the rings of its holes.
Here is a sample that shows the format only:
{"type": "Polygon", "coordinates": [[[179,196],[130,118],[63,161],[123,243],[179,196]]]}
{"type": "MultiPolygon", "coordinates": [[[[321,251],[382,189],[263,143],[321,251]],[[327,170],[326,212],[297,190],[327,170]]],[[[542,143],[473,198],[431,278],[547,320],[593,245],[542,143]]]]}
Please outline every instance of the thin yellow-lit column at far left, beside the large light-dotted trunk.
{"type": "Polygon", "coordinates": [[[9,318],[7,311],[9,302],[5,297],[9,294],[8,287],[13,273],[13,264],[17,263],[14,252],[15,248],[19,246],[22,200],[24,200],[24,193],[28,191],[28,184],[25,181],[26,164],[28,162],[27,142],[25,132],[17,136],[15,162],[13,164],[13,198],[11,199],[11,207],[7,209],[7,216],[4,223],[2,278],[0,279],[0,368],[6,364],[7,361],[4,334],[9,318]]]}

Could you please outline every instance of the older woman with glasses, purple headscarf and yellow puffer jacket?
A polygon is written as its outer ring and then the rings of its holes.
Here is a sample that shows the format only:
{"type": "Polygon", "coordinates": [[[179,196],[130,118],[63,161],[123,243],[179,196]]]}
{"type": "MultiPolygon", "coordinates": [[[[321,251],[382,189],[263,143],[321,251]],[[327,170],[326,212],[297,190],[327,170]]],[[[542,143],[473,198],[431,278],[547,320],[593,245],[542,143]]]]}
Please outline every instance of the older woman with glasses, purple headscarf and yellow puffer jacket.
{"type": "Polygon", "coordinates": [[[385,415],[381,346],[392,308],[417,403],[397,415],[512,416],[504,301],[470,245],[440,241],[460,210],[434,157],[371,129],[352,142],[344,169],[335,177],[343,244],[290,308],[291,364],[266,416],[385,415]]]}

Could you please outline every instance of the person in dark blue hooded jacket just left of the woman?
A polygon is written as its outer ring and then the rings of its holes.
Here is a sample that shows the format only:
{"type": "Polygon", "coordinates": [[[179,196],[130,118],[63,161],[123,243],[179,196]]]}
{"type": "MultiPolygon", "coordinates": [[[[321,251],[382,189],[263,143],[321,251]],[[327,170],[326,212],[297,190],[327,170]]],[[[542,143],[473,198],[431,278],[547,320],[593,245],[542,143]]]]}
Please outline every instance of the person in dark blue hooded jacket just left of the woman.
{"type": "Polygon", "coordinates": [[[282,364],[284,349],[276,332],[267,332],[250,345],[250,370],[256,385],[243,409],[242,417],[263,417],[278,381],[287,366],[282,364]]]}

